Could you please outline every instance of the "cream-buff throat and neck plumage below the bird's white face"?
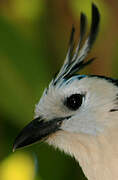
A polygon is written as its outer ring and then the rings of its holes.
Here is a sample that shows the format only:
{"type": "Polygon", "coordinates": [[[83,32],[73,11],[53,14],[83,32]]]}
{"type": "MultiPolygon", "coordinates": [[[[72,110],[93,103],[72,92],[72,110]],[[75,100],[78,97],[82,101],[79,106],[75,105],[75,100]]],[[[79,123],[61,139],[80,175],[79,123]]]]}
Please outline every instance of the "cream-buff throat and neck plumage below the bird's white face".
{"type": "Polygon", "coordinates": [[[48,143],[74,156],[88,180],[118,180],[118,128],[99,136],[59,131],[48,143]]]}

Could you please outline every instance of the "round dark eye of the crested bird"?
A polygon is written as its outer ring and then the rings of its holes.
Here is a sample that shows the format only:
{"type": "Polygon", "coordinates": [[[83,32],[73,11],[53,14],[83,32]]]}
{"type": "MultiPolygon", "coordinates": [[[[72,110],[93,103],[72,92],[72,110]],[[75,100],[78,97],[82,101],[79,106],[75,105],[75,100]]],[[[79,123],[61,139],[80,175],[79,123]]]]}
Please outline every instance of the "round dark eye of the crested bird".
{"type": "Polygon", "coordinates": [[[83,95],[81,94],[72,94],[71,96],[67,97],[64,102],[70,110],[75,111],[77,110],[82,104],[83,95]]]}

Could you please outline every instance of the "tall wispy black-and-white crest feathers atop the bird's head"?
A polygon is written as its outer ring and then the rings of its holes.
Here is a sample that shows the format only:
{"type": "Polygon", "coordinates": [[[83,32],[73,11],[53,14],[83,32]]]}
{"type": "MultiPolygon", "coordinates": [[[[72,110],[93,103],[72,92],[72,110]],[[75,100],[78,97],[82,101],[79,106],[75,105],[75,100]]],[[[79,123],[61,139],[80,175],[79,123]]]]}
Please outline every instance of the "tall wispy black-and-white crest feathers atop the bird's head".
{"type": "Polygon", "coordinates": [[[83,69],[85,66],[93,62],[94,58],[86,62],[84,60],[88,55],[88,53],[90,52],[94,41],[96,40],[96,36],[99,29],[100,14],[95,4],[92,4],[92,22],[91,22],[90,32],[87,39],[83,43],[86,33],[86,22],[87,22],[87,18],[85,14],[81,13],[80,39],[78,41],[78,45],[74,50],[75,28],[73,26],[70,34],[69,48],[67,51],[64,64],[62,65],[60,71],[57,73],[57,75],[51,82],[52,85],[56,85],[61,79],[65,79],[73,76],[77,71],[83,69]]]}

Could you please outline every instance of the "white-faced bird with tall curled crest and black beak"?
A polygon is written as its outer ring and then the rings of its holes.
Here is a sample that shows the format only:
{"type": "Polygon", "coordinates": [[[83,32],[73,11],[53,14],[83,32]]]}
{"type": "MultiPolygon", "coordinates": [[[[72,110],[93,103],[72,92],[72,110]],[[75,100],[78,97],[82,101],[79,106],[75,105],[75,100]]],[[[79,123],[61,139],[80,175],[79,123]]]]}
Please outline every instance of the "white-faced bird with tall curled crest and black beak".
{"type": "Polygon", "coordinates": [[[118,80],[81,75],[80,70],[98,36],[101,14],[92,3],[90,32],[80,15],[80,38],[75,48],[72,27],[64,64],[35,106],[34,120],[16,137],[13,150],[46,142],[74,157],[88,180],[118,180],[118,80]]]}

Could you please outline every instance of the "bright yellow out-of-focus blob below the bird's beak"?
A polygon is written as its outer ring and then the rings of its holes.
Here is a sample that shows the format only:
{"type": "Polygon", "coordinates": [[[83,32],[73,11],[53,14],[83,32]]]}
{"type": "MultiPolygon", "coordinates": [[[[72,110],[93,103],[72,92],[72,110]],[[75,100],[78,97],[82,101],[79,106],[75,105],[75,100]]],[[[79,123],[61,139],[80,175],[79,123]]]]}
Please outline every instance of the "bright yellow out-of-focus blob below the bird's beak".
{"type": "Polygon", "coordinates": [[[33,180],[35,167],[28,154],[16,153],[7,157],[0,166],[1,180],[33,180]]]}

